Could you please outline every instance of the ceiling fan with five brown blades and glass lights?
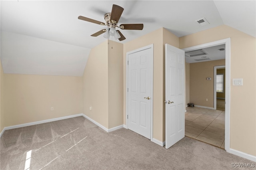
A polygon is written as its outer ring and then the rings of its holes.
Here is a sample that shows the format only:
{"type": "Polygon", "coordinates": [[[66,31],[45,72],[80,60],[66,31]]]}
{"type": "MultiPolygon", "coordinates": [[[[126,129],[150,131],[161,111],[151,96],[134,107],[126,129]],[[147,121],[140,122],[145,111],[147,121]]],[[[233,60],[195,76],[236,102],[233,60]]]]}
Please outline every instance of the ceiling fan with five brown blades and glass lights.
{"type": "Polygon", "coordinates": [[[104,37],[107,39],[110,38],[110,36],[113,36],[116,40],[118,39],[119,41],[122,41],[122,40],[125,40],[126,38],[119,30],[116,30],[116,27],[122,30],[142,30],[143,29],[143,24],[121,24],[120,26],[118,26],[117,23],[122,15],[123,10],[124,8],[122,8],[121,6],[113,4],[112,12],[106,13],[104,15],[106,24],[104,22],[86,18],[84,16],[78,16],[78,19],[99,24],[102,26],[108,26],[107,29],[100,30],[92,34],[91,36],[97,37],[100,34],[104,33],[104,37]]]}

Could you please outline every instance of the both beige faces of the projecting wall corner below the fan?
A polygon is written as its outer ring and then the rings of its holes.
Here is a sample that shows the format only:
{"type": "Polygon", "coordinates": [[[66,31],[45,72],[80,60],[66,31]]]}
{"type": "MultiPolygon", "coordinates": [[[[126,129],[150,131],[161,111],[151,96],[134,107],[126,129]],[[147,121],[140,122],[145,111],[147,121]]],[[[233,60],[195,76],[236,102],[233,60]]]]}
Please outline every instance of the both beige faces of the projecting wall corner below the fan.
{"type": "Polygon", "coordinates": [[[91,49],[84,70],[84,114],[108,129],[123,125],[122,56],[123,44],[103,42],[91,49]]]}

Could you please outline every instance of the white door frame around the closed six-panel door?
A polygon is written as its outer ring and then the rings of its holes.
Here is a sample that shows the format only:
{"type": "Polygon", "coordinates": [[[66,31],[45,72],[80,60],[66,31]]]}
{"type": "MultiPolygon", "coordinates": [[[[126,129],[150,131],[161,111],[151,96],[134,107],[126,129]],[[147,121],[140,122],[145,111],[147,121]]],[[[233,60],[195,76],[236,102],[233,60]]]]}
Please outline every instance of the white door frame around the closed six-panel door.
{"type": "Polygon", "coordinates": [[[151,49],[151,100],[150,100],[150,140],[153,140],[153,59],[154,59],[154,44],[150,44],[126,53],[126,128],[128,129],[128,55],[142,51],[145,49],[151,49]]]}

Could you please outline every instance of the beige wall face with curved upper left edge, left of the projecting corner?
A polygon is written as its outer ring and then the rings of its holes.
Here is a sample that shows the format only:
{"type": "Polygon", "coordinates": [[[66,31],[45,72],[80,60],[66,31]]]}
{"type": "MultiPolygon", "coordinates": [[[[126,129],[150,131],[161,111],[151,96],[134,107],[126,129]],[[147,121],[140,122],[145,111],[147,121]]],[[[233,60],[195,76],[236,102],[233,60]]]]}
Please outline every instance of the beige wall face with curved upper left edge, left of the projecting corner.
{"type": "Polygon", "coordinates": [[[84,115],[108,128],[108,41],[90,51],[84,69],[83,94],[84,115]]]}

